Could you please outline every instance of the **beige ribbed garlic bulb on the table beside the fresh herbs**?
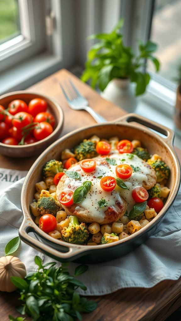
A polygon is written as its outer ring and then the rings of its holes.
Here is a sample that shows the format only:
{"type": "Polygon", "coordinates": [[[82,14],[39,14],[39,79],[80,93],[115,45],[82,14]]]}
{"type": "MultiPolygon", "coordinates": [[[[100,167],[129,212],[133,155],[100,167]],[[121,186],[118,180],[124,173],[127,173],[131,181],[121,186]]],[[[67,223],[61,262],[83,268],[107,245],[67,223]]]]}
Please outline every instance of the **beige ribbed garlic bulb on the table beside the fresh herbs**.
{"type": "Polygon", "coordinates": [[[0,291],[13,292],[15,285],[11,282],[11,276],[18,276],[24,279],[26,268],[15,256],[3,256],[0,258],[0,291]]]}

